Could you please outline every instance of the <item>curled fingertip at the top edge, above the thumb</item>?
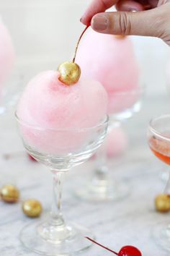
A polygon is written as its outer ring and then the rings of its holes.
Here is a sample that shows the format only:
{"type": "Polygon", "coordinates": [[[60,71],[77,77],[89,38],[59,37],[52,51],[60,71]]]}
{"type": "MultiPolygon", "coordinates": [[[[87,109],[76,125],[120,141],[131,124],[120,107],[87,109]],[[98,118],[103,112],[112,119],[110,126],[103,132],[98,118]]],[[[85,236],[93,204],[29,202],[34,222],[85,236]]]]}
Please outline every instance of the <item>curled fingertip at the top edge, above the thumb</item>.
{"type": "Polygon", "coordinates": [[[116,4],[117,11],[121,12],[133,12],[133,11],[144,11],[145,7],[138,1],[133,0],[122,0],[116,4]]]}

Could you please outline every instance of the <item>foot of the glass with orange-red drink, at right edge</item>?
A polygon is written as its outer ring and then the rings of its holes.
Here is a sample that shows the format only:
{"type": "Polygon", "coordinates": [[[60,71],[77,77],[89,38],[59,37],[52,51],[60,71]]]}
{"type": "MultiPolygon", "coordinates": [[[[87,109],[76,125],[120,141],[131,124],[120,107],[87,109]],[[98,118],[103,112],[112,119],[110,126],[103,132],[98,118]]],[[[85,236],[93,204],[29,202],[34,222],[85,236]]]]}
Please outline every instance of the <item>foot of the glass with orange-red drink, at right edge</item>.
{"type": "Polygon", "coordinates": [[[170,223],[164,221],[156,224],[153,229],[153,237],[158,245],[170,252],[170,223]]]}

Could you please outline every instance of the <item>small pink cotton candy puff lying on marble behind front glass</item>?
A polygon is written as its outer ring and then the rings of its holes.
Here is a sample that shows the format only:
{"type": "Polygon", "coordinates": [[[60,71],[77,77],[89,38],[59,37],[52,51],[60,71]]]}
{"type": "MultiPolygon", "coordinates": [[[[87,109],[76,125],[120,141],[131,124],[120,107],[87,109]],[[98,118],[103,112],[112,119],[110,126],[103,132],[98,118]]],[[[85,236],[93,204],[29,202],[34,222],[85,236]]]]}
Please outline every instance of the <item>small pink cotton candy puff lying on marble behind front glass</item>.
{"type": "Polygon", "coordinates": [[[128,138],[121,127],[115,127],[107,135],[107,157],[121,155],[128,147],[128,138]]]}

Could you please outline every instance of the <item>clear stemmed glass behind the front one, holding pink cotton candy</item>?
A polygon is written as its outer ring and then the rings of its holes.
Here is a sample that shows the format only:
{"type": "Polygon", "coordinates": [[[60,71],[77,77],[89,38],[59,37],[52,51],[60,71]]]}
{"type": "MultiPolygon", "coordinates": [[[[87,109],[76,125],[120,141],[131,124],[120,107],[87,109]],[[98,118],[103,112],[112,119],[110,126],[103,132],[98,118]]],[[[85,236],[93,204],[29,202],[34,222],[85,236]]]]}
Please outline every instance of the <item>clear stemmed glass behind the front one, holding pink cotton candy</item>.
{"type": "MultiPolygon", "coordinates": [[[[122,121],[129,119],[133,114],[138,113],[141,108],[141,96],[143,87],[138,86],[133,90],[123,90],[109,93],[109,127],[107,134],[112,129],[119,127],[122,121]]],[[[92,179],[81,185],[76,195],[88,201],[120,200],[128,195],[128,185],[123,182],[114,181],[110,177],[111,171],[108,167],[107,144],[103,143],[97,151],[95,168],[92,179]]]]}

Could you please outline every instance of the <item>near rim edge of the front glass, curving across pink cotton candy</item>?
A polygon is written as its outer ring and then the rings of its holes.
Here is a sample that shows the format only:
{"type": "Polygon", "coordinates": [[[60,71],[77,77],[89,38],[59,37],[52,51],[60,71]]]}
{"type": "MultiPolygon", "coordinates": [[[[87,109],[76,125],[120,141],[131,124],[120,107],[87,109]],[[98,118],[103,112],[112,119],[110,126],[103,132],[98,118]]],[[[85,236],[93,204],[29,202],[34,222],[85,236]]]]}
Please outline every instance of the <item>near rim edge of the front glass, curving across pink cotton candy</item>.
{"type": "Polygon", "coordinates": [[[49,130],[49,131],[53,131],[53,132],[86,132],[86,131],[90,131],[92,129],[97,129],[98,127],[102,127],[103,125],[108,124],[109,121],[109,116],[106,114],[104,116],[104,120],[101,121],[99,124],[97,124],[96,126],[93,127],[84,127],[84,128],[60,128],[60,129],[53,129],[53,128],[43,128],[43,127],[39,127],[38,125],[32,125],[27,123],[26,121],[19,119],[19,116],[17,115],[17,111],[14,112],[14,116],[17,119],[17,121],[19,122],[19,124],[23,124],[26,127],[30,127],[32,129],[37,129],[37,130],[49,130]]]}

